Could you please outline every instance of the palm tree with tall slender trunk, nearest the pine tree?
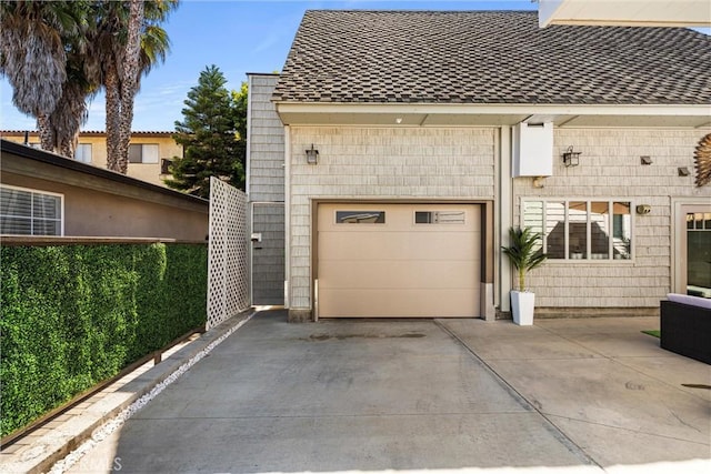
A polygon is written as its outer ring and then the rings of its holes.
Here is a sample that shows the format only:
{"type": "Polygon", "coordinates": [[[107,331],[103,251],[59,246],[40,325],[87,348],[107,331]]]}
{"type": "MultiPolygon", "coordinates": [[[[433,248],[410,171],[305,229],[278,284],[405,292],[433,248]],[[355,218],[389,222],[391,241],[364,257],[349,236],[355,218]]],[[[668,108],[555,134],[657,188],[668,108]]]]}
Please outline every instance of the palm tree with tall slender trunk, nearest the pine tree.
{"type": "Polygon", "coordinates": [[[97,2],[84,72],[106,89],[107,168],[126,173],[140,75],[163,61],[169,49],[159,23],[178,0],[97,2]]]}

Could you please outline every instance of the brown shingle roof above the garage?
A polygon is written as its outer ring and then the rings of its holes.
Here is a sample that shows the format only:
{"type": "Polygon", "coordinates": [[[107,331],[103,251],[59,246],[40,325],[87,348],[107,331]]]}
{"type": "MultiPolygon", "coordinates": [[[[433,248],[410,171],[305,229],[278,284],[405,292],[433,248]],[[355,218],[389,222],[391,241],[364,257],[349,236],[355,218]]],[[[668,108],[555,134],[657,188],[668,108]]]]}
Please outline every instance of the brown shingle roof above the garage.
{"type": "Polygon", "coordinates": [[[277,101],[709,104],[711,37],[522,11],[307,11],[277,101]]]}

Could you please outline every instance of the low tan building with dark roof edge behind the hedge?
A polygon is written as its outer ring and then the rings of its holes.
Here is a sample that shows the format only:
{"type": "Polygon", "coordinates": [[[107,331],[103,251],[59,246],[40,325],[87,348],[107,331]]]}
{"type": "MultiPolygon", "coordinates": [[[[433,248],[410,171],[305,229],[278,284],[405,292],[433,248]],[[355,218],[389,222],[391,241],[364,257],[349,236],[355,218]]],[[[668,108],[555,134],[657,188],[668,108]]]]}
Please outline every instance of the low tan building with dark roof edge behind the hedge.
{"type": "Polygon", "coordinates": [[[0,140],[0,234],[204,242],[209,201],[0,140]]]}

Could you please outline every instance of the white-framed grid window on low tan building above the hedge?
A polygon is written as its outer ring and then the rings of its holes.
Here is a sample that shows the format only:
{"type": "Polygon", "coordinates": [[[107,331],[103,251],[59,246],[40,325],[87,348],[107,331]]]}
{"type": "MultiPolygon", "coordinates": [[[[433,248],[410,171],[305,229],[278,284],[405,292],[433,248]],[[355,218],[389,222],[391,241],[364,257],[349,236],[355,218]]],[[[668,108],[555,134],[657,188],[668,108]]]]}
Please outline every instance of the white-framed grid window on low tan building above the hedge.
{"type": "Polygon", "coordinates": [[[0,233],[62,235],[62,201],[61,194],[0,186],[0,233]]]}

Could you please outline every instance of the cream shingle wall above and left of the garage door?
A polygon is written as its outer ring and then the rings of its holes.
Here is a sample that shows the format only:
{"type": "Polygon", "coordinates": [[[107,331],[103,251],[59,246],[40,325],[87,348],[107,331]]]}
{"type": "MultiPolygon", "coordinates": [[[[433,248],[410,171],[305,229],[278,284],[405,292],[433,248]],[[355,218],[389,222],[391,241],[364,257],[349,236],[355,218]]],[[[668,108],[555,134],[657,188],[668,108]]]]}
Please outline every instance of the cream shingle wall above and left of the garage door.
{"type": "MultiPolygon", "coordinates": [[[[495,129],[291,127],[291,309],[311,309],[314,199],[493,200],[495,129]],[[313,143],[319,164],[307,164],[313,143]]],[[[288,191],[289,192],[289,191],[288,191]]]]}

